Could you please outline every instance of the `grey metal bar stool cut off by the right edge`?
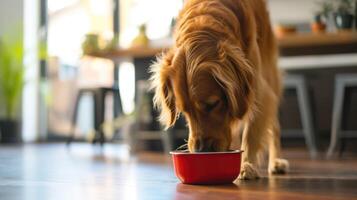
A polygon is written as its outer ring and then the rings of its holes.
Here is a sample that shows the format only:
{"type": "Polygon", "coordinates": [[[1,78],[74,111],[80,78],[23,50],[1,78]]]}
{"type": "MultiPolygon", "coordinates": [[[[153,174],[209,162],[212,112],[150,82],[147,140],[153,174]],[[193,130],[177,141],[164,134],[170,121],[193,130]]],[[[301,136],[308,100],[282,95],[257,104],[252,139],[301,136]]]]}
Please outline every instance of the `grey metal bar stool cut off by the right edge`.
{"type": "MultiPolygon", "coordinates": [[[[357,87],[357,74],[338,74],[335,78],[335,95],[332,110],[332,125],[330,146],[327,151],[327,158],[331,158],[341,139],[357,138],[357,131],[342,130],[343,103],[345,90],[347,87],[357,87]]],[[[342,154],[344,145],[340,149],[342,154]]]]}

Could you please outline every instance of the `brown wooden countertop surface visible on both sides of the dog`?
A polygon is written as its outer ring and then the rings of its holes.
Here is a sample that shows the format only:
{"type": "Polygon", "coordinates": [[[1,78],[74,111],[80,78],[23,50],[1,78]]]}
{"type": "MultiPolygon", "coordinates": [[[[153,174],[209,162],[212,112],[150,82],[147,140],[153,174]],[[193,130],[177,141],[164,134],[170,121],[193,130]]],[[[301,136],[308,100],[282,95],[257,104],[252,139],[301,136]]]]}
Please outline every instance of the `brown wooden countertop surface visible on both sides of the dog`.
{"type": "MultiPolygon", "coordinates": [[[[320,34],[298,33],[286,35],[277,38],[277,40],[281,54],[288,56],[357,52],[357,32],[353,31],[320,34]],[[330,47],[330,49],[326,49],[326,47],[330,47]]],[[[136,47],[99,52],[91,54],[91,56],[112,60],[124,57],[143,58],[156,56],[168,48],[169,46],[136,47]]]]}

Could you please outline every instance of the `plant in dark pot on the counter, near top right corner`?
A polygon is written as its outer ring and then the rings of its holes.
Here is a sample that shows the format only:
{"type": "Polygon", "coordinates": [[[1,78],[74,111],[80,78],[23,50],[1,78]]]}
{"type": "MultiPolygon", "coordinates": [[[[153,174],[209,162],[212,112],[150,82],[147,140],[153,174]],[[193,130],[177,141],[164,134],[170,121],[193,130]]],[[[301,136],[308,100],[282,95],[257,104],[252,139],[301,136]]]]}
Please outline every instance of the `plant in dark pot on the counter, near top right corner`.
{"type": "Polygon", "coordinates": [[[354,0],[339,0],[337,11],[334,15],[338,29],[351,29],[353,26],[354,0]]]}

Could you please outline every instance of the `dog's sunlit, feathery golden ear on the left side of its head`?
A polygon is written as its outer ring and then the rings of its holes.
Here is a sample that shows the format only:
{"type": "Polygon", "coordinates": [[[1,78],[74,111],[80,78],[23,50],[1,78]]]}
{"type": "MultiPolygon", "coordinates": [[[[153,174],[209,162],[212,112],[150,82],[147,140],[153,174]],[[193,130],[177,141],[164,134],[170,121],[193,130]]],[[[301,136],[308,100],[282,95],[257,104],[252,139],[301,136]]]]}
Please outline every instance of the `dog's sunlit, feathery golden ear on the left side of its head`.
{"type": "Polygon", "coordinates": [[[173,51],[163,54],[157,62],[150,67],[151,89],[154,90],[154,106],[159,109],[159,121],[165,129],[171,127],[177,118],[178,112],[175,104],[175,96],[172,89],[170,76],[173,70],[173,51]]]}

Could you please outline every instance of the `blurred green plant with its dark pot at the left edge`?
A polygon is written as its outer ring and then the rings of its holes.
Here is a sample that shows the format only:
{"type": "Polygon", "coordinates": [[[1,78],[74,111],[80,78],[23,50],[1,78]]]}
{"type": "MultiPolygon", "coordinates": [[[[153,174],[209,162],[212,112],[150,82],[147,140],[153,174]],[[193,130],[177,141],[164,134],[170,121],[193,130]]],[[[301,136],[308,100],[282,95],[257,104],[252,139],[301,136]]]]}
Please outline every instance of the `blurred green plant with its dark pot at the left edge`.
{"type": "MultiPolygon", "coordinates": [[[[22,38],[22,37],[21,37],[22,38]]],[[[21,142],[20,121],[17,119],[19,97],[23,88],[22,39],[0,40],[0,141],[21,142]]]]}

